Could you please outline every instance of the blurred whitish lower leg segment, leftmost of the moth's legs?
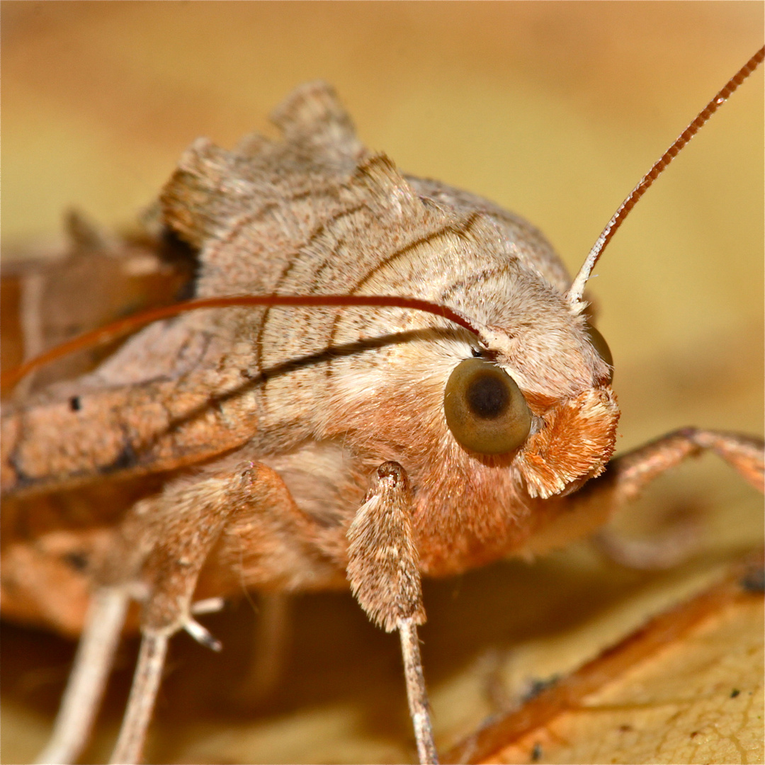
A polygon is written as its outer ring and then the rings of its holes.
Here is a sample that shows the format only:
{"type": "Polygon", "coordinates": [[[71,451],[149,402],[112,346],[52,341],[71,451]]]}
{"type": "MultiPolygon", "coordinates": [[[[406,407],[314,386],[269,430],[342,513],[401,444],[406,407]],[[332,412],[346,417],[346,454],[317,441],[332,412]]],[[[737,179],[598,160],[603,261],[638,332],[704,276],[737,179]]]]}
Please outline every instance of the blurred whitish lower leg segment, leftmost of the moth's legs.
{"type": "Polygon", "coordinates": [[[112,669],[128,603],[129,594],[121,588],[100,588],[91,596],[53,734],[37,756],[38,763],[70,763],[84,749],[112,669]]]}

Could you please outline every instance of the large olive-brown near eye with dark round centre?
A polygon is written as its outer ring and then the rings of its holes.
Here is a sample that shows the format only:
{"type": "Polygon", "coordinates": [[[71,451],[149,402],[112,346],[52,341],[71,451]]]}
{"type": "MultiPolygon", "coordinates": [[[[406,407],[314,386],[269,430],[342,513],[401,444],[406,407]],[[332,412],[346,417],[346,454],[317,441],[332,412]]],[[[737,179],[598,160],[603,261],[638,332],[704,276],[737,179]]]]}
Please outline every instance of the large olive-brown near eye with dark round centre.
{"type": "Polygon", "coordinates": [[[486,359],[457,364],[444,389],[444,414],[466,449],[504,454],[529,435],[531,412],[515,380],[486,359]]]}

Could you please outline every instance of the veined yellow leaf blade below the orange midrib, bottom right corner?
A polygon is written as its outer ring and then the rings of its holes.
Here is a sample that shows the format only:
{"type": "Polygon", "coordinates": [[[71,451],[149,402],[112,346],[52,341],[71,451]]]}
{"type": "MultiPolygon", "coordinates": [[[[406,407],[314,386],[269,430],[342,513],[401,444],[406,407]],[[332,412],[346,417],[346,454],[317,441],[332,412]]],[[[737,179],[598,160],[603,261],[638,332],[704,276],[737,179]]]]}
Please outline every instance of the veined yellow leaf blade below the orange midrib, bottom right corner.
{"type": "Polygon", "coordinates": [[[762,623],[760,598],[732,605],[485,761],[761,763],[762,623]]]}

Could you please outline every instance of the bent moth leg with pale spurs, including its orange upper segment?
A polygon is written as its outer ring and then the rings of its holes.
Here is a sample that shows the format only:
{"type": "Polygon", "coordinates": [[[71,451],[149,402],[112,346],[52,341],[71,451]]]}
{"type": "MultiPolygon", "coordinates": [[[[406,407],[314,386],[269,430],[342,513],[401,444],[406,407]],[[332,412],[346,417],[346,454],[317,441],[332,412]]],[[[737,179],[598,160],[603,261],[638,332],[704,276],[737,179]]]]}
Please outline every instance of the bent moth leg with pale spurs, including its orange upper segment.
{"type": "MultiPolygon", "coordinates": [[[[264,464],[242,463],[192,483],[181,479],[165,490],[161,503],[164,513],[151,521],[153,547],[141,571],[147,587],[141,651],[112,763],[141,760],[170,636],[186,630],[204,645],[216,647],[191,615],[203,565],[226,565],[233,548],[251,564],[241,572],[239,587],[243,582],[270,582],[290,589],[326,575],[322,563],[311,557],[311,519],[295,504],[278,473],[264,464]]],[[[146,513],[142,516],[148,523],[146,513]]],[[[334,571],[334,565],[331,568],[334,571]]]]}

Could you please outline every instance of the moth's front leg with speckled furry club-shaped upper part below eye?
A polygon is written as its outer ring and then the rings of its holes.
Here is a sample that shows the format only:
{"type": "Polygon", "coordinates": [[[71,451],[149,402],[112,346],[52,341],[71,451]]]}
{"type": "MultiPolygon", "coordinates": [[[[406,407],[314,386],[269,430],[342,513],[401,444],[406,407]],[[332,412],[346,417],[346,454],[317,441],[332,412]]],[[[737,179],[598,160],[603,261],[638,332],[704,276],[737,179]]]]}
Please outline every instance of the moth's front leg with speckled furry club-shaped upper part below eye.
{"type": "Polygon", "coordinates": [[[412,491],[401,465],[377,468],[347,538],[347,577],[356,600],[378,627],[399,630],[419,761],[438,763],[417,637],[425,608],[412,539],[412,491]]]}

